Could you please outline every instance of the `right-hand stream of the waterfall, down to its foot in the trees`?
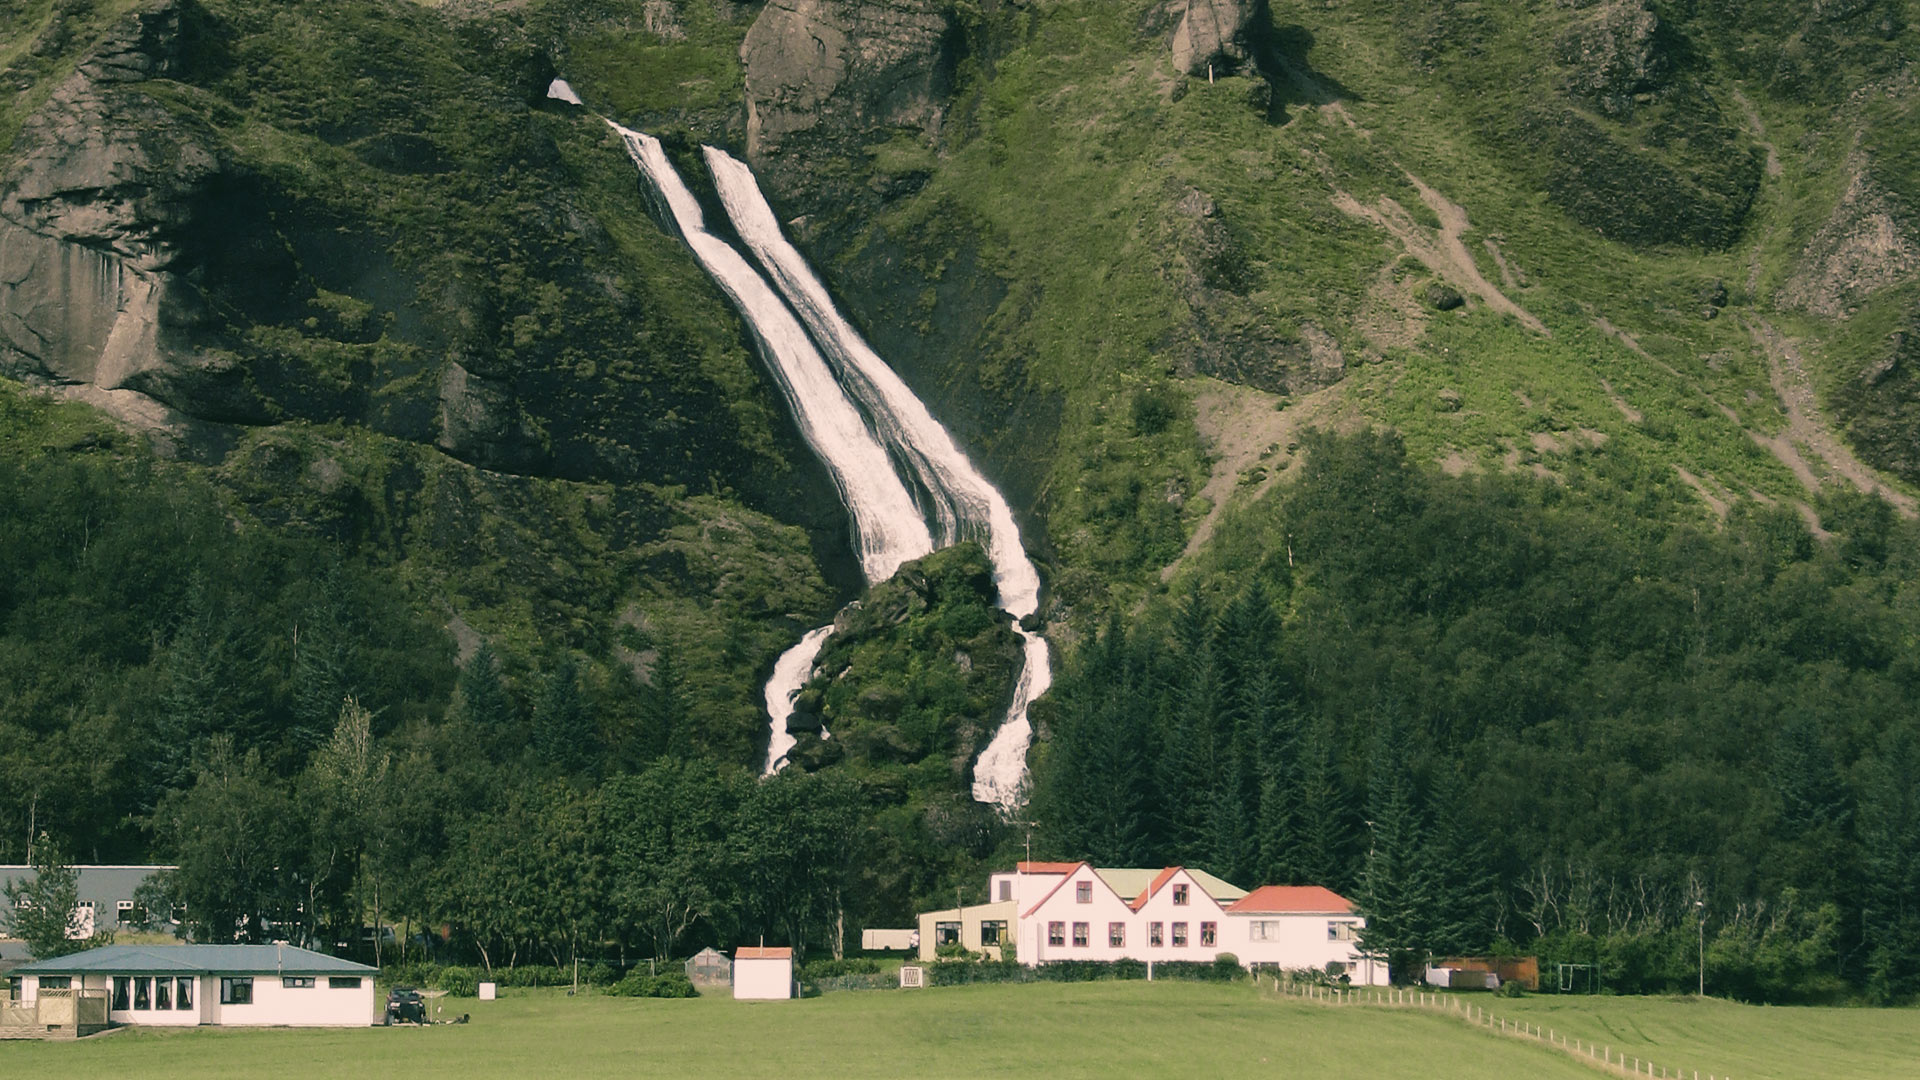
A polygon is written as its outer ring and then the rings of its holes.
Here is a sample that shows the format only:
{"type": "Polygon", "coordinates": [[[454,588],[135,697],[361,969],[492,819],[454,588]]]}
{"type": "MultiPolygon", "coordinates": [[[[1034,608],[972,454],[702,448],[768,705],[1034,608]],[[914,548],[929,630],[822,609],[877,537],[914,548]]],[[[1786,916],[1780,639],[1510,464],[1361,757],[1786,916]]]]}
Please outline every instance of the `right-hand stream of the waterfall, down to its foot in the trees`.
{"type": "Polygon", "coordinates": [[[914,471],[939,525],[937,540],[943,546],[977,540],[987,548],[1000,607],[1014,615],[1014,630],[1021,638],[1021,671],[1006,723],[973,765],[973,798],[1012,807],[1021,799],[1027,746],[1033,740],[1027,705],[1052,684],[1046,638],[1020,625],[1041,607],[1041,573],[1020,544],[1014,509],[933,419],[925,404],[839,313],[806,258],[780,231],[780,219],[760,194],[753,169],[724,150],[712,146],[703,150],[733,231],[806,323],[814,342],[866,407],[881,438],[914,471]]]}

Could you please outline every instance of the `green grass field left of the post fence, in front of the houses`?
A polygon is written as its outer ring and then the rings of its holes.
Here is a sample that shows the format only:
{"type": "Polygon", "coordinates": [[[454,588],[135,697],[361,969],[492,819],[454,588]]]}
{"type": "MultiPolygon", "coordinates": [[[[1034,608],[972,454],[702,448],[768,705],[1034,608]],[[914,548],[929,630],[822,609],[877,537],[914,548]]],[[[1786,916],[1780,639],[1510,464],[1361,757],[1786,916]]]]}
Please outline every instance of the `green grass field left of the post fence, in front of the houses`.
{"type": "Polygon", "coordinates": [[[791,1003],[461,1001],[432,1030],[132,1032],[19,1045],[21,1070],[167,1076],[1590,1076],[1559,1055],[1438,1017],[1329,1011],[1246,986],[979,986],[791,1003]]]}

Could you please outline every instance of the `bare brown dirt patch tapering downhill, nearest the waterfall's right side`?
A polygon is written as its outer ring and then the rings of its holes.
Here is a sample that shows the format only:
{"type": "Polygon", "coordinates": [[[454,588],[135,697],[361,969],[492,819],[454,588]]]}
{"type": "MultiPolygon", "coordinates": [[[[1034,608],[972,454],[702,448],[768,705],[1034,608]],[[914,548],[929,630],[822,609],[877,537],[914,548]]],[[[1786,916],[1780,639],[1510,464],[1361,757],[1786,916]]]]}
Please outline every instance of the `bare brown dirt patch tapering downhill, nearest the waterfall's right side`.
{"type": "Polygon", "coordinates": [[[1340,390],[1344,382],[1334,382],[1325,390],[1304,394],[1292,400],[1286,409],[1275,405],[1283,400],[1265,390],[1219,382],[1208,379],[1194,394],[1194,427],[1213,455],[1213,471],[1200,488],[1208,500],[1206,517],[1187,538],[1187,550],[1160,569],[1160,580],[1173,580],[1173,575],[1192,559],[1213,538],[1227,503],[1236,498],[1248,502],[1267,494],[1273,484],[1298,461],[1294,442],[1309,427],[1331,427],[1340,413],[1340,390]],[[1250,471],[1261,467],[1265,477],[1250,471]],[[1242,477],[1258,477],[1242,484],[1242,477]]]}

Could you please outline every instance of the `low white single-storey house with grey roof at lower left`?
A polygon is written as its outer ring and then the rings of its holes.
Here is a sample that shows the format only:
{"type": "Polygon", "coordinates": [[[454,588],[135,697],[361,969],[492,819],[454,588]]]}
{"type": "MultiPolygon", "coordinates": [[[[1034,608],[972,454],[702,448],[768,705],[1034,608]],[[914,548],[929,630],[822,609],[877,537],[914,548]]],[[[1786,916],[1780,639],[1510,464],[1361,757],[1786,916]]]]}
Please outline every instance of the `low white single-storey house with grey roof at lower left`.
{"type": "Polygon", "coordinates": [[[376,969],[294,945],[104,945],[13,969],[19,1003],[104,997],[111,1024],[365,1028],[376,969]]]}

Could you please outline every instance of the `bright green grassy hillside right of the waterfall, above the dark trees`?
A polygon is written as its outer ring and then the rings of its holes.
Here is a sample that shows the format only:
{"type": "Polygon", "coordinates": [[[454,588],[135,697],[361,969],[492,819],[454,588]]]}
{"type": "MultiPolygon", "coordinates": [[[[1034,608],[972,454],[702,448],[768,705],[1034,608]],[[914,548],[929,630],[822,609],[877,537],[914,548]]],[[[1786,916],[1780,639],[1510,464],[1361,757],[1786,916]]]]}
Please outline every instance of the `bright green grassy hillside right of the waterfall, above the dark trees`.
{"type": "MultiPolygon", "coordinates": [[[[914,236],[929,265],[977,242],[1008,282],[981,342],[979,382],[989,394],[1066,398],[1044,492],[1064,563],[1119,578],[1119,598],[1137,594],[1150,582],[1144,571],[1177,553],[1208,509],[1160,498],[1169,486],[1194,492],[1206,475],[1190,413],[1142,432],[1127,409],[1142,388],[1194,386],[1167,348],[1187,317],[1187,267],[1169,236],[1188,184],[1217,200],[1246,254],[1248,317],[1281,338],[1309,321],[1331,331],[1348,357],[1344,415],[1396,427],[1417,457],[1549,473],[1576,498],[1642,513],[1709,513],[1674,465],[1734,498],[1811,500],[1747,434],[1776,434],[1788,421],[1743,325],[1770,317],[1797,336],[1820,329],[1753,307],[1745,288],[1755,265],[1759,292],[1772,288],[1837,196],[1837,171],[1797,138],[1807,117],[1763,104],[1763,119],[1780,125],[1768,135],[1784,175],[1764,183],[1755,223],[1730,248],[1640,250],[1574,223],[1532,188],[1511,146],[1475,135],[1509,102],[1488,106],[1478,86],[1423,75],[1402,54],[1386,4],[1273,6],[1275,23],[1292,27],[1288,40],[1311,42],[1296,46],[1296,67],[1340,98],[1338,110],[1315,108],[1296,90],[1283,125],[1246,104],[1250,79],[1177,88],[1160,44],[1137,35],[1142,8],[1060,2],[1023,15],[1031,21],[993,77],[956,106],[933,179],[879,219],[889,234],[914,236]],[[1503,292],[1551,336],[1482,304],[1428,311],[1398,344],[1359,332],[1386,307],[1382,271],[1392,267],[1407,294],[1434,275],[1379,227],[1340,213],[1334,192],[1369,206],[1392,198],[1432,229],[1438,219],[1409,175],[1465,208],[1463,242],[1494,284],[1501,271],[1486,240],[1501,242],[1523,279],[1503,292]],[[1709,321],[1699,292],[1715,281],[1728,284],[1732,304],[1709,321]],[[1580,429],[1599,432],[1605,448],[1590,450],[1596,440],[1580,429]]],[[[1524,67],[1526,40],[1501,33],[1484,63],[1524,67]]],[[[1734,88],[1724,79],[1722,96],[1734,88]]],[[[858,246],[847,252],[841,273],[860,256],[858,246]]],[[[1862,321],[1847,334],[1872,338],[1876,327],[1862,321]]],[[[1812,346],[1811,375],[1830,384],[1837,375],[1812,346]]],[[[1812,467],[1824,473],[1818,459],[1812,467]]]]}

